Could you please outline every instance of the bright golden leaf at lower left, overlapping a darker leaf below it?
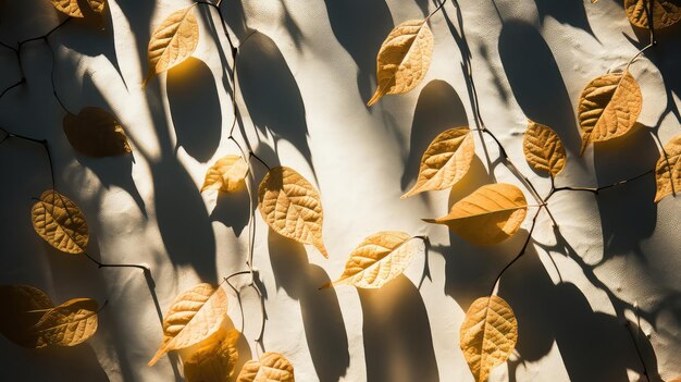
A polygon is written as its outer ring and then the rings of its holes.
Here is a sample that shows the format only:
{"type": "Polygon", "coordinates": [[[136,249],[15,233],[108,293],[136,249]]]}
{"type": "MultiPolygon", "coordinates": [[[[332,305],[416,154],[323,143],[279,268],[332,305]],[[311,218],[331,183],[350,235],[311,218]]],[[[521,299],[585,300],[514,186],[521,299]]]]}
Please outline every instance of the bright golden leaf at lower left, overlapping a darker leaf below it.
{"type": "Polygon", "coordinates": [[[227,294],[220,286],[198,284],[171,304],[163,319],[163,342],[149,361],[165,353],[195,345],[215,333],[227,315],[227,294]]]}

